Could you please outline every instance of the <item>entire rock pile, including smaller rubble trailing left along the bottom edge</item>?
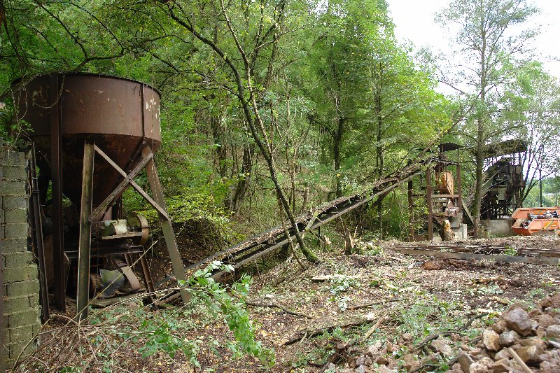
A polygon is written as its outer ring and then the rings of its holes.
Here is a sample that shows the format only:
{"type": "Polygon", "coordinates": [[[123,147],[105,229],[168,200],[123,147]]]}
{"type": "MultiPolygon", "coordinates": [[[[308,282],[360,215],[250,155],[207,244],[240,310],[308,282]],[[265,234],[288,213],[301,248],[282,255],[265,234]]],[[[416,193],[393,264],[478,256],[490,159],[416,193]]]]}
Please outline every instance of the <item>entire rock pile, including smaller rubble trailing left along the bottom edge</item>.
{"type": "Polygon", "coordinates": [[[482,332],[474,347],[468,345],[468,337],[456,334],[428,341],[421,346],[426,353],[422,359],[414,354],[418,346],[408,334],[402,335],[398,343],[377,341],[365,350],[341,343],[337,345],[336,358],[325,370],[428,372],[448,362],[449,372],[453,373],[559,373],[560,294],[546,297],[531,311],[522,304],[512,304],[482,332]]]}

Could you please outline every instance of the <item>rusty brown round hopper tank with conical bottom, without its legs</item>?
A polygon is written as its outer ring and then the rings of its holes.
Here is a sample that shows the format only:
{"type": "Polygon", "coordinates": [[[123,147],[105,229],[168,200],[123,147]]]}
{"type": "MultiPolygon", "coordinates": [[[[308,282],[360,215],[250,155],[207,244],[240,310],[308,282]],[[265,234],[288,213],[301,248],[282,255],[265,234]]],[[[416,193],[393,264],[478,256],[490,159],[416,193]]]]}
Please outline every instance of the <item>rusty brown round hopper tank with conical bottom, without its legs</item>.
{"type": "MultiPolygon", "coordinates": [[[[62,132],[62,190],[79,206],[83,144],[95,141],[128,171],[142,143],[153,153],[160,147],[160,94],[135,80],[93,74],[38,76],[18,95],[19,118],[29,122],[29,137],[50,159],[52,120],[62,132]],[[58,115],[51,115],[59,110],[58,115]],[[53,119],[54,118],[54,119],[53,119]]],[[[122,180],[113,167],[96,157],[93,204],[100,204],[122,180]]]]}

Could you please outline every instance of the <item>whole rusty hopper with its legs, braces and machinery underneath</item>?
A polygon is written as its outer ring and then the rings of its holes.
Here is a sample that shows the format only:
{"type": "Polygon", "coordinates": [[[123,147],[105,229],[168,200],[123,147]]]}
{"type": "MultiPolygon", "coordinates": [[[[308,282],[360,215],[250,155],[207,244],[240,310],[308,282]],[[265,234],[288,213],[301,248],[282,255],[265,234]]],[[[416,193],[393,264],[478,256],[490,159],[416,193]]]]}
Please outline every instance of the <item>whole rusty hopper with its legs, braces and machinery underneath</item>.
{"type": "MultiPolygon", "coordinates": [[[[158,91],[110,76],[52,74],[25,85],[18,94],[18,106],[20,119],[31,125],[28,135],[38,154],[37,189],[43,203],[52,181],[57,308],[65,309],[66,286],[70,289],[75,284],[77,318],[85,318],[90,288],[96,289],[92,283],[103,277],[108,266],[120,267],[130,288],[139,288],[132,255],[139,255],[146,288],[153,290],[142,246],[148,234],[146,220],[122,219],[120,196],[130,187],[158,211],[174,274],[185,280],[153,162],[161,143],[158,91]],[[134,181],[143,169],[151,195],[134,181]],[[73,206],[64,208],[63,195],[73,206]]],[[[181,295],[183,301],[188,300],[186,291],[181,295]]]]}

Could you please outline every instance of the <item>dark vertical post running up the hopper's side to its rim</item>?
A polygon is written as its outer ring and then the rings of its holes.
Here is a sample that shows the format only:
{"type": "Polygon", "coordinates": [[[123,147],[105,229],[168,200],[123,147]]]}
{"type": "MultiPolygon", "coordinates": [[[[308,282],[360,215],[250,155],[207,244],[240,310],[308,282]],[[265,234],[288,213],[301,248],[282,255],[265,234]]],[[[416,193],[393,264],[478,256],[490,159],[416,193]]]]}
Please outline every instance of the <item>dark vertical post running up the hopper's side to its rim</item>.
{"type": "Polygon", "coordinates": [[[50,179],[52,181],[52,256],[55,265],[55,305],[66,311],[64,270],[64,233],[62,219],[62,122],[60,115],[59,76],[50,77],[50,179]]]}

